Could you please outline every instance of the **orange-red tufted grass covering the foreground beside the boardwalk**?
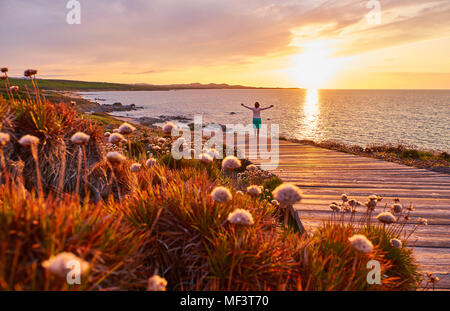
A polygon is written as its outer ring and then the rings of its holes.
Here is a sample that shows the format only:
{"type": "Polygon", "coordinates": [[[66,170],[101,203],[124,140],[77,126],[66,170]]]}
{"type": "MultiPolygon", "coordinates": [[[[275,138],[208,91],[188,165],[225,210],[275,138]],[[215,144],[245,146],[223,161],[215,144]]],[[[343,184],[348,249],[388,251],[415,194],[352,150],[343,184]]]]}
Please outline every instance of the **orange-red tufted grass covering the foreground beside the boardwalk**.
{"type": "Polygon", "coordinates": [[[299,235],[280,221],[283,210],[269,203],[271,191],[282,183],[278,177],[260,170],[247,173],[248,161],[230,176],[220,160],[206,165],[174,160],[174,139],[157,129],[138,126],[128,137],[130,144],[113,146],[103,133],[117,122],[80,114],[38,94],[0,99],[1,131],[11,137],[2,148],[0,289],[144,290],[154,274],[167,279],[168,290],[416,288],[411,253],[386,242],[398,235],[397,227],[355,226],[333,214],[316,232],[299,235]],[[70,143],[76,131],[91,137],[83,169],[77,169],[78,146],[70,143]],[[18,144],[25,134],[40,138],[39,166],[30,150],[18,144]],[[165,141],[158,141],[163,136],[165,141]],[[126,155],[125,160],[108,161],[110,151],[126,155]],[[150,154],[157,164],[146,167],[150,154]],[[142,168],[133,173],[135,162],[142,168]],[[36,169],[44,185],[41,196],[35,191],[36,169]],[[238,194],[250,184],[262,185],[263,194],[238,194]],[[213,200],[210,193],[218,185],[231,191],[231,200],[213,200]],[[228,215],[236,208],[247,210],[254,224],[230,223],[228,215]],[[365,232],[374,244],[370,254],[350,245],[348,238],[357,232],[365,232]],[[43,268],[42,262],[61,252],[89,262],[81,284],[68,285],[43,268]],[[387,275],[381,284],[365,281],[369,259],[379,260],[387,275]]]}

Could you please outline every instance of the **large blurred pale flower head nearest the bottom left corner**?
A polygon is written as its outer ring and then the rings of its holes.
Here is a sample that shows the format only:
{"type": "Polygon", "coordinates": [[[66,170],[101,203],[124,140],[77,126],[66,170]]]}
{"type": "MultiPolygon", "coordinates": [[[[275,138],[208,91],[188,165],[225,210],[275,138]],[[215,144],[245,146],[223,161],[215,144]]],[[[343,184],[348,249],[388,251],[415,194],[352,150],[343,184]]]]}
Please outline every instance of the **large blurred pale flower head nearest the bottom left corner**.
{"type": "Polygon", "coordinates": [[[90,264],[87,261],[69,252],[62,252],[54,257],[51,257],[50,259],[42,262],[42,267],[44,267],[51,274],[57,275],[59,277],[66,277],[67,274],[72,270],[73,264],[71,262],[73,261],[79,263],[81,274],[85,274],[87,271],[89,271],[90,264]]]}

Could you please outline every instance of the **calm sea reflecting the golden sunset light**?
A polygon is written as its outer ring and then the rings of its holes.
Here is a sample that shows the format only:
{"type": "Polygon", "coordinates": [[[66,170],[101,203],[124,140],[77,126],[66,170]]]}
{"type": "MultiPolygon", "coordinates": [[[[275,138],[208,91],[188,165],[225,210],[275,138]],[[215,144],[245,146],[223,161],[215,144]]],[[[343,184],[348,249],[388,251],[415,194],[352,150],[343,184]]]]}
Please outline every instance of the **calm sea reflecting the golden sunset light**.
{"type": "Polygon", "coordinates": [[[117,116],[202,116],[205,124],[222,125],[250,124],[252,112],[241,103],[259,102],[261,107],[274,105],[261,112],[262,122],[278,124],[286,138],[450,151],[450,90],[189,89],[80,95],[100,104],[142,107],[114,112],[117,116]]]}

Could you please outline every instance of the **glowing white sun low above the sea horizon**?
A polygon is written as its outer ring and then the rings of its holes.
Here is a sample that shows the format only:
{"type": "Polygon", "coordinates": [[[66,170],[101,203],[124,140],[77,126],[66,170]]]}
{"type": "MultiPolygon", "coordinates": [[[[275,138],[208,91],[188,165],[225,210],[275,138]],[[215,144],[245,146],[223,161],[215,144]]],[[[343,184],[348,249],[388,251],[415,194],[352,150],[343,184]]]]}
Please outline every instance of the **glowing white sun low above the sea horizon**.
{"type": "Polygon", "coordinates": [[[309,43],[302,48],[303,51],[292,59],[292,67],[289,69],[290,76],[303,88],[326,87],[345,60],[333,58],[332,50],[325,42],[309,43]]]}

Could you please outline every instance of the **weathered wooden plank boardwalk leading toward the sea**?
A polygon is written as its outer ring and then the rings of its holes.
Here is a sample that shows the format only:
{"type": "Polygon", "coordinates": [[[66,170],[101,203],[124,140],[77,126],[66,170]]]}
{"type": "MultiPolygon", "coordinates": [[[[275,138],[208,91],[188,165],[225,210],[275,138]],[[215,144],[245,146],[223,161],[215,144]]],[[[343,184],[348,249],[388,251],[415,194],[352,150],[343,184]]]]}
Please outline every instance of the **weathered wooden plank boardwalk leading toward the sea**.
{"type": "Polygon", "coordinates": [[[428,219],[411,238],[421,270],[441,279],[437,288],[450,289],[450,175],[287,141],[279,148],[272,172],[302,189],[304,198],[294,208],[307,230],[330,216],[329,204],[343,193],[363,203],[377,194],[383,197],[379,206],[399,198],[415,208],[407,230],[419,217],[428,219]]]}

